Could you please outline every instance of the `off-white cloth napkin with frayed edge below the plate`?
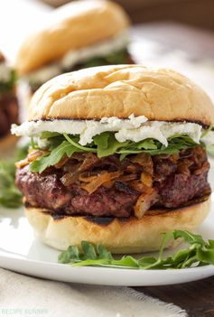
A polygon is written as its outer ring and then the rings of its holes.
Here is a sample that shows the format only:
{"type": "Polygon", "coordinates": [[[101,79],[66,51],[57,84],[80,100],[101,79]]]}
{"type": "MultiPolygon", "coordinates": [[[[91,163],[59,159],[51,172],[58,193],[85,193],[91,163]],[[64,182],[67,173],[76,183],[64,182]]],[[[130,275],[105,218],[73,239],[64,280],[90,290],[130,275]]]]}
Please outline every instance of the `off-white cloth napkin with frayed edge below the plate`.
{"type": "Polygon", "coordinates": [[[0,269],[0,316],[186,317],[128,287],[66,284],[0,269]]]}

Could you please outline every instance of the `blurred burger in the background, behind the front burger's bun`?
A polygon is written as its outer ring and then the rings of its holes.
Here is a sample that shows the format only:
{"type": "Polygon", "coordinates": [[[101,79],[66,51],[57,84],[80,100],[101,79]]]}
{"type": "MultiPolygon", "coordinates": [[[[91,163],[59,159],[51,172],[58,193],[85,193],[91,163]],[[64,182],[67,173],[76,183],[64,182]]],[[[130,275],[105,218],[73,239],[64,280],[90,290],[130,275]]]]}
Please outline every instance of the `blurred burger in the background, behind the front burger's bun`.
{"type": "Polygon", "coordinates": [[[67,71],[132,63],[128,27],[126,12],[115,3],[85,0],[63,5],[23,41],[16,70],[34,92],[67,71]]]}

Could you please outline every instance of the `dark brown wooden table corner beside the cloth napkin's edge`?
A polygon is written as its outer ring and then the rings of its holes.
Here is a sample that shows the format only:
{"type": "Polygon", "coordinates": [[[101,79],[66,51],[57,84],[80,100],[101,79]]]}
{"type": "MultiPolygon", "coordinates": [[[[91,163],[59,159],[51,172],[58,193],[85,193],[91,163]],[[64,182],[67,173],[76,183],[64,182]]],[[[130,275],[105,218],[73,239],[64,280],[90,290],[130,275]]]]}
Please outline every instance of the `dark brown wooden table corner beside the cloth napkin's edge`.
{"type": "Polygon", "coordinates": [[[185,309],[189,317],[214,317],[214,277],[168,286],[135,287],[166,303],[185,309]]]}

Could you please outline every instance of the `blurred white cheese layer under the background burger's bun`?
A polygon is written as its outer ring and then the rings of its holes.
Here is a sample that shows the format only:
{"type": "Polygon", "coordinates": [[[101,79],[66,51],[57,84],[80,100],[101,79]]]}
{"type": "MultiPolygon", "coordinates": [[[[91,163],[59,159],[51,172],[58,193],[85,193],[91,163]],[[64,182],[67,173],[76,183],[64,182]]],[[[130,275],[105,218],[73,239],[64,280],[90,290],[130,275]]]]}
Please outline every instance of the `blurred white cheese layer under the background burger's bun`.
{"type": "Polygon", "coordinates": [[[61,73],[61,69],[70,70],[72,66],[87,61],[94,57],[103,57],[108,54],[122,50],[128,44],[128,33],[123,32],[113,39],[98,42],[78,50],[68,51],[57,63],[51,63],[39,70],[34,70],[25,76],[30,83],[43,83],[61,73]]]}

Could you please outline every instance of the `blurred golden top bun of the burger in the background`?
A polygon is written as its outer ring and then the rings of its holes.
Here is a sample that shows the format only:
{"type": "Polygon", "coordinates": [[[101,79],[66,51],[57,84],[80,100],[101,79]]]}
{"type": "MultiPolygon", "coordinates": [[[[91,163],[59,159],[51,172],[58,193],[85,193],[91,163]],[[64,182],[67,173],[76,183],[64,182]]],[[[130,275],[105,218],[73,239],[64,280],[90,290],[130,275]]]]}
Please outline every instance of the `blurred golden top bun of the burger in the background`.
{"type": "Polygon", "coordinates": [[[16,69],[20,74],[36,70],[68,51],[114,37],[128,25],[125,11],[112,2],[82,0],[63,5],[25,39],[16,57],[16,69]]]}

